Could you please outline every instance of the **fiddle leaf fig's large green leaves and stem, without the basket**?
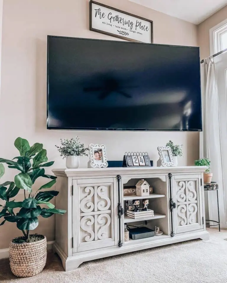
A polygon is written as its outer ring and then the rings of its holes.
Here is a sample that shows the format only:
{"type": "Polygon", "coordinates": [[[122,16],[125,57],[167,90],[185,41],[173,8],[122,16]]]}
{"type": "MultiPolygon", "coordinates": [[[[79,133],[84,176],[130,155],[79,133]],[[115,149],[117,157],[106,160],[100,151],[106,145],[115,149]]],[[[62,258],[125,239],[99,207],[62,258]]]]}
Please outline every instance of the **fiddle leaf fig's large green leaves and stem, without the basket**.
{"type": "Polygon", "coordinates": [[[43,149],[43,144],[35,143],[30,147],[26,139],[18,137],[14,142],[14,146],[19,150],[20,156],[16,156],[12,160],[0,158],[0,178],[5,173],[2,163],[6,163],[9,168],[20,171],[14,177],[14,182],[0,183],[0,198],[5,201],[4,205],[0,205],[0,218],[4,218],[0,226],[6,221],[17,223],[17,228],[22,231],[26,241],[29,241],[30,230],[34,230],[38,226],[39,216],[48,218],[55,213],[64,214],[66,210],[56,209],[49,202],[59,192],[54,190],[40,191],[49,189],[56,183],[56,177],[46,175],[45,169],[42,168],[49,167],[54,163],[53,161],[47,162],[48,158],[46,149],[43,149]],[[51,181],[34,192],[33,185],[39,177],[48,178],[51,181]],[[24,190],[23,201],[13,199],[19,190],[24,190]],[[19,208],[19,212],[15,212],[15,208],[17,208],[17,211],[19,208]]]}

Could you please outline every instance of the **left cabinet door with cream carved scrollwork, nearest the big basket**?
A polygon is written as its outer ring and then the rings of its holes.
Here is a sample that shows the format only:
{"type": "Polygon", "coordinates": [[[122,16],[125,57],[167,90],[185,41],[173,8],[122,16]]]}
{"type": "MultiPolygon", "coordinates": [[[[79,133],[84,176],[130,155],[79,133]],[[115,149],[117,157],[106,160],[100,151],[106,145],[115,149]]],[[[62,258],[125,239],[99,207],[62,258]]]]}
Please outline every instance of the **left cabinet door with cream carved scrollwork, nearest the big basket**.
{"type": "Polygon", "coordinates": [[[73,187],[73,253],[117,245],[116,181],[80,179],[73,187]]]}

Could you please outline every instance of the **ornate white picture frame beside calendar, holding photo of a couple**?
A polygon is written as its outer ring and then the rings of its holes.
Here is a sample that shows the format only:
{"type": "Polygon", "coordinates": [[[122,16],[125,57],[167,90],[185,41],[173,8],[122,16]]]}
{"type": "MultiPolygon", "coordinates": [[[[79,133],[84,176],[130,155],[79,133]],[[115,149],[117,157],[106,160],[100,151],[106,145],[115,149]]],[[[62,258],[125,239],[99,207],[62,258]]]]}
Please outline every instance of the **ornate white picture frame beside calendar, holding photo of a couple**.
{"type": "Polygon", "coordinates": [[[88,167],[91,168],[101,168],[107,167],[107,156],[106,156],[106,146],[104,144],[89,144],[89,155],[90,161],[88,162],[88,167]]]}

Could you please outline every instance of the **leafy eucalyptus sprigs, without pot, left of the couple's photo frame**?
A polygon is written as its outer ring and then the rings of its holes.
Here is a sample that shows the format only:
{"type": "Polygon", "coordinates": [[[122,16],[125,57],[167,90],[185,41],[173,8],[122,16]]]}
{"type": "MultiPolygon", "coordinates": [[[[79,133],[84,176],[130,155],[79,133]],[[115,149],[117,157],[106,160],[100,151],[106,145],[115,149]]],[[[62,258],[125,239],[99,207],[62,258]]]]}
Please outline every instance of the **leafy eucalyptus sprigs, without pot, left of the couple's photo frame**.
{"type": "Polygon", "coordinates": [[[75,138],[71,139],[61,139],[61,146],[56,146],[58,151],[60,152],[60,156],[63,156],[63,159],[66,156],[88,156],[86,151],[88,150],[88,147],[84,147],[84,144],[80,142],[80,138],[76,136],[75,138]]]}

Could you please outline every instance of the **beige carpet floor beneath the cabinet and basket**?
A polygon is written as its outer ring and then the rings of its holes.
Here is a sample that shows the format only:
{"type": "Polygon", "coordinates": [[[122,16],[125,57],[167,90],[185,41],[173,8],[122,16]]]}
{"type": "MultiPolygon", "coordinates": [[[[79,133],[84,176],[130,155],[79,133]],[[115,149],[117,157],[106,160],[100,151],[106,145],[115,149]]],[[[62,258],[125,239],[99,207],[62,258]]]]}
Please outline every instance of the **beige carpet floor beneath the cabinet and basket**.
{"type": "Polygon", "coordinates": [[[30,278],[12,275],[9,259],[0,260],[1,283],[226,283],[227,231],[209,229],[210,241],[193,240],[85,262],[64,272],[48,253],[45,269],[30,278]]]}

